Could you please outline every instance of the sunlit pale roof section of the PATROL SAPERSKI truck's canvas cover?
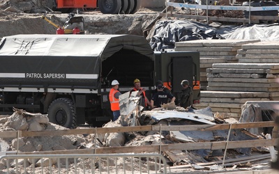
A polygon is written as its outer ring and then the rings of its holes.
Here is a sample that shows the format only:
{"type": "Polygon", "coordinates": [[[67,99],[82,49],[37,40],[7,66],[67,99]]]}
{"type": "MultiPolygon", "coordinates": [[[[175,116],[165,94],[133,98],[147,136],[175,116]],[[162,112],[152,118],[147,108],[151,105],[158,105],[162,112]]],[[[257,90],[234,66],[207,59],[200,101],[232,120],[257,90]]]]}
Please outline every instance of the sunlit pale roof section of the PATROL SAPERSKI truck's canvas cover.
{"type": "Polygon", "coordinates": [[[104,61],[120,49],[153,59],[153,51],[138,35],[11,35],[0,42],[0,55],[93,56],[104,61]]]}

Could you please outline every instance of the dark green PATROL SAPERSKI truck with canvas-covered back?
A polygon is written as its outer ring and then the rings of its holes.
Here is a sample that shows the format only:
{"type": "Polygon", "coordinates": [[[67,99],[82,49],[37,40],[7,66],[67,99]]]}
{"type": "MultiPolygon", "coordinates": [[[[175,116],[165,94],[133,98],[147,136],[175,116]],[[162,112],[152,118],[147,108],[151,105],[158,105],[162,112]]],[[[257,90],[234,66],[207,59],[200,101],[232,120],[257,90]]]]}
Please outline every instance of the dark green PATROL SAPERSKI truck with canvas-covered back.
{"type": "Polygon", "coordinates": [[[199,52],[154,53],[137,35],[10,35],[0,42],[0,60],[0,114],[15,107],[68,128],[112,119],[114,79],[121,93],[140,79],[148,97],[158,79],[174,95],[181,80],[199,81],[199,52]]]}

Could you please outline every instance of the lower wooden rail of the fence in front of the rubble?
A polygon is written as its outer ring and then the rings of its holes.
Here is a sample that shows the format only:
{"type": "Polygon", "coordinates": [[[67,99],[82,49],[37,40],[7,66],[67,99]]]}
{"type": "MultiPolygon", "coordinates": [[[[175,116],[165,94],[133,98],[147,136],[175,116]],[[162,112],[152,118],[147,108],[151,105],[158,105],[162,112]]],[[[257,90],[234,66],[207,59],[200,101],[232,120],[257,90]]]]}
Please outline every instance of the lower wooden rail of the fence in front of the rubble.
{"type": "MultiPolygon", "coordinates": [[[[278,139],[259,139],[248,141],[229,141],[227,148],[253,148],[262,146],[277,145],[278,139]]],[[[176,143],[176,144],[163,144],[161,150],[199,150],[210,149],[219,150],[225,149],[227,141],[216,142],[202,142],[202,143],[176,143]]],[[[114,154],[114,153],[142,153],[142,152],[159,152],[160,145],[141,145],[141,146],[121,146],[121,147],[104,147],[96,148],[96,154],[114,154]]],[[[93,154],[94,149],[86,150],[53,150],[53,151],[40,151],[40,152],[19,152],[19,155],[36,155],[36,154],[93,154]]]]}

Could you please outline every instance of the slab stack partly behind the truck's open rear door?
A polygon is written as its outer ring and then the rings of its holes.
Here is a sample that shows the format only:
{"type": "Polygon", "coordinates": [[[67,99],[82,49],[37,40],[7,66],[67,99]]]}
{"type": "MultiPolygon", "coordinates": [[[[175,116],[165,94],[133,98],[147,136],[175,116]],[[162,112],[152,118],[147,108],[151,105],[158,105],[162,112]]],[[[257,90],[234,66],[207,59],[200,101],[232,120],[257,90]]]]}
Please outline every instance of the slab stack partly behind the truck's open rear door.
{"type": "Polygon", "coordinates": [[[237,63],[238,49],[242,45],[260,40],[189,40],[175,43],[175,51],[198,51],[200,56],[200,88],[206,90],[208,85],[206,68],[213,63],[237,63]]]}

